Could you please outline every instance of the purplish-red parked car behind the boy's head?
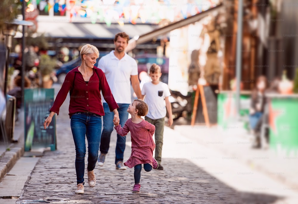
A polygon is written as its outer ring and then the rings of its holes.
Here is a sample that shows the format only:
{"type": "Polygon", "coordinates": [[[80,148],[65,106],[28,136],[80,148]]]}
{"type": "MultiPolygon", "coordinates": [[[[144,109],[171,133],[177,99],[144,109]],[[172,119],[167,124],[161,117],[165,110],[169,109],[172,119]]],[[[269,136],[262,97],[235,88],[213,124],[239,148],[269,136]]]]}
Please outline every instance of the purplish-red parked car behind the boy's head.
{"type": "Polygon", "coordinates": [[[138,73],[145,71],[148,73],[151,65],[156,63],[160,66],[162,76],[161,80],[164,83],[168,83],[169,77],[169,58],[167,57],[157,57],[154,54],[143,54],[143,55],[136,55],[134,58],[138,64],[138,73]]]}

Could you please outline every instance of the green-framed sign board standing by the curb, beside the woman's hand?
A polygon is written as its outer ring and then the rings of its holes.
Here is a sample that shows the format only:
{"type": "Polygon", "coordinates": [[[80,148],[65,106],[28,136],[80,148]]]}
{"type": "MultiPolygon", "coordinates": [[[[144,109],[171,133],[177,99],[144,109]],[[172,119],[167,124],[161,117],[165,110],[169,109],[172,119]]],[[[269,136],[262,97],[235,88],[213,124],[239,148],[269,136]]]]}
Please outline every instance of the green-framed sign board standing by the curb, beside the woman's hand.
{"type": "Polygon", "coordinates": [[[54,89],[25,89],[25,151],[50,147],[56,150],[56,117],[44,129],[44,120],[54,103],[54,89]]]}

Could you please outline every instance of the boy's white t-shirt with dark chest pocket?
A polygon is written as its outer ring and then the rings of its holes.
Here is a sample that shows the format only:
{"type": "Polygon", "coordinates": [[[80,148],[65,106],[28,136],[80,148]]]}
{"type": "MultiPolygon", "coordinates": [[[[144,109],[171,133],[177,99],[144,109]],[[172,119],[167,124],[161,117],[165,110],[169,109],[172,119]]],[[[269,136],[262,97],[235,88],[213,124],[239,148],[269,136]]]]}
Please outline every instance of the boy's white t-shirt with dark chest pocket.
{"type": "Polygon", "coordinates": [[[171,95],[167,84],[161,81],[158,84],[147,82],[143,85],[142,95],[145,95],[144,101],[148,104],[147,117],[156,120],[166,116],[164,98],[171,95]]]}

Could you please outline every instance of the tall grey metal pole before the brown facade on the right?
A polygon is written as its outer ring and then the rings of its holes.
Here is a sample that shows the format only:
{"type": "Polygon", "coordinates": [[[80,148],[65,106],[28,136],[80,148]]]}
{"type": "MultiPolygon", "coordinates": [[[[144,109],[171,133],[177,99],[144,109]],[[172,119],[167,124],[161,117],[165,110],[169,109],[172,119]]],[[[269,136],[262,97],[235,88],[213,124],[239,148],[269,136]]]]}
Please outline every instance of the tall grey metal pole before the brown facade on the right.
{"type": "Polygon", "coordinates": [[[236,115],[240,117],[240,81],[242,64],[242,19],[243,19],[243,0],[238,0],[237,18],[237,43],[236,43],[236,115]]]}

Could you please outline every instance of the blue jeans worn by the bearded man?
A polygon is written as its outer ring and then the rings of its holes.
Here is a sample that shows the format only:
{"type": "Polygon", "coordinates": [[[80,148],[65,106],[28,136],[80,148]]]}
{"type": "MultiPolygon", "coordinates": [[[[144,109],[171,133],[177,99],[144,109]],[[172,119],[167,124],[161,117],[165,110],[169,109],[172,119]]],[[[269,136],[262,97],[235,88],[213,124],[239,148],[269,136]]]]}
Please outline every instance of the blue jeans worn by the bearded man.
{"type": "MultiPolygon", "coordinates": [[[[120,119],[120,125],[121,127],[124,126],[126,120],[128,119],[128,103],[118,103],[119,108],[119,119],[120,119]]],[[[108,103],[103,103],[103,109],[105,111],[105,115],[103,116],[103,132],[101,134],[100,139],[100,152],[103,154],[108,153],[108,150],[110,148],[110,140],[111,140],[111,133],[114,130],[114,112],[111,112],[108,106],[108,103]]],[[[115,164],[117,164],[118,161],[123,161],[123,154],[125,150],[125,141],[126,136],[122,137],[117,134],[117,143],[116,143],[116,158],[115,158],[115,164]]]]}

